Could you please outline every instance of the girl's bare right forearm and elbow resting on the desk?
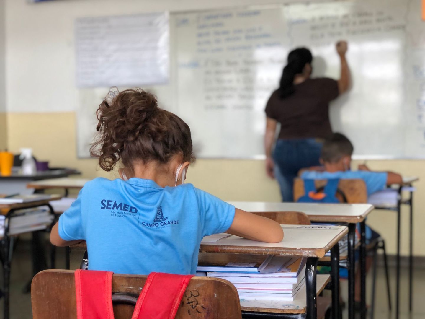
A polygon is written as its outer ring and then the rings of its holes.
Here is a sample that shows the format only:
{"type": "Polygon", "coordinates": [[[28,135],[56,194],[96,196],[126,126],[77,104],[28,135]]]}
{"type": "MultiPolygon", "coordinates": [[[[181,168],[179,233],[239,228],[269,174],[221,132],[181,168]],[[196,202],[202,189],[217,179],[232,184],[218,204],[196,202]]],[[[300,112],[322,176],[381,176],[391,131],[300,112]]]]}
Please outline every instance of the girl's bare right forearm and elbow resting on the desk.
{"type": "Polygon", "coordinates": [[[277,222],[238,208],[235,210],[232,225],[226,233],[259,242],[281,242],[283,239],[283,229],[277,222]]]}

